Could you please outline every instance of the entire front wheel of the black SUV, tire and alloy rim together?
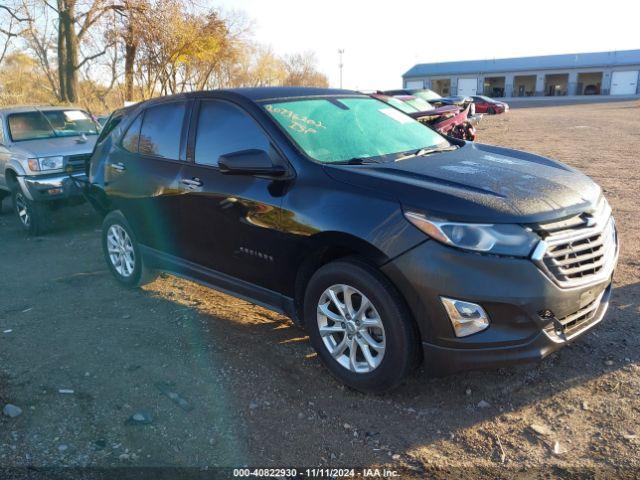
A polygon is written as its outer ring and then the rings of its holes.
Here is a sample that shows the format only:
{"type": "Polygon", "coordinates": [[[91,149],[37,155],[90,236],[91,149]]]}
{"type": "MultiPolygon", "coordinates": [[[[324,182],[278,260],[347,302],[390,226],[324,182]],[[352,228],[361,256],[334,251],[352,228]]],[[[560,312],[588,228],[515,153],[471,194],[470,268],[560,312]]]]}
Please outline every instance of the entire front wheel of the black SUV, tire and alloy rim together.
{"type": "Polygon", "coordinates": [[[371,393],[391,390],[418,364],[417,329],[403,299],[386,277],[364,261],[348,258],[321,267],[307,286],[304,315],[318,356],[334,377],[351,388],[371,393]],[[348,304],[345,298],[350,298],[349,314],[340,314],[332,291],[343,310],[348,304]],[[363,299],[371,305],[364,312],[363,299]]]}

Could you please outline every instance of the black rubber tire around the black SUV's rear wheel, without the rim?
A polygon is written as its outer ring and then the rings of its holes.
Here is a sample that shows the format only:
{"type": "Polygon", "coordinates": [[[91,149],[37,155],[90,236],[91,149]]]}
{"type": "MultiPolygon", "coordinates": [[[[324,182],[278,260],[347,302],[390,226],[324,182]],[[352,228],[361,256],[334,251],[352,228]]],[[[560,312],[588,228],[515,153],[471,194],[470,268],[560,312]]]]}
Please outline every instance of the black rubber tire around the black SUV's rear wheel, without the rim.
{"type": "MultiPolygon", "coordinates": [[[[104,259],[105,262],[107,262],[109,270],[121,285],[130,288],[136,288],[142,285],[146,285],[147,283],[151,283],[158,276],[158,273],[156,271],[148,269],[145,266],[144,258],[142,257],[142,254],[140,252],[140,247],[138,245],[138,241],[136,240],[135,233],[129,225],[129,222],[127,222],[125,216],[119,210],[110,212],[102,222],[102,252],[104,254],[104,259]],[[111,258],[108,247],[108,238],[112,231],[111,229],[114,226],[116,227],[115,230],[113,230],[114,232],[118,231],[118,228],[121,228],[124,232],[126,232],[126,236],[129,240],[128,244],[130,244],[133,249],[133,261],[129,262],[133,264],[133,268],[130,270],[130,272],[126,271],[126,267],[125,270],[120,269],[119,271],[118,265],[116,265],[111,258]]],[[[122,258],[120,264],[121,263],[122,258]]]]}

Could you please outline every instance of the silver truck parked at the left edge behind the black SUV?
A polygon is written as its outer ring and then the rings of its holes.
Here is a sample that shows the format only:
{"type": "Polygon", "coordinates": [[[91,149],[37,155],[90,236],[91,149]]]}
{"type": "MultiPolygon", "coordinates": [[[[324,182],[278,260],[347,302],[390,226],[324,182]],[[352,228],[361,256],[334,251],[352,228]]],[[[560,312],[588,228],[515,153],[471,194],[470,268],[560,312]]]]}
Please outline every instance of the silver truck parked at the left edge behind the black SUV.
{"type": "Polygon", "coordinates": [[[0,109],[0,202],[13,197],[28,233],[43,233],[52,209],[82,202],[70,175],[84,177],[99,132],[91,115],[78,108],[0,109]]]}

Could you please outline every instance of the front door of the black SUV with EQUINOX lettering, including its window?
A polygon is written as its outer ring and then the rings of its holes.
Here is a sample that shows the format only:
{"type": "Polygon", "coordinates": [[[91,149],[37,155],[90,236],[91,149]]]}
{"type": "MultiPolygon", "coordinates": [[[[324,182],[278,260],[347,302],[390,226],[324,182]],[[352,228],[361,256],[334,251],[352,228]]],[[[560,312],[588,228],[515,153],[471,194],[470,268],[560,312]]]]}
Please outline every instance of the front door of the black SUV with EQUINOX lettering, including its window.
{"type": "Polygon", "coordinates": [[[207,268],[276,289],[282,182],[224,175],[221,155],[247,149],[277,155],[258,123],[223,100],[204,99],[193,114],[193,163],[182,170],[182,257],[207,268]]]}

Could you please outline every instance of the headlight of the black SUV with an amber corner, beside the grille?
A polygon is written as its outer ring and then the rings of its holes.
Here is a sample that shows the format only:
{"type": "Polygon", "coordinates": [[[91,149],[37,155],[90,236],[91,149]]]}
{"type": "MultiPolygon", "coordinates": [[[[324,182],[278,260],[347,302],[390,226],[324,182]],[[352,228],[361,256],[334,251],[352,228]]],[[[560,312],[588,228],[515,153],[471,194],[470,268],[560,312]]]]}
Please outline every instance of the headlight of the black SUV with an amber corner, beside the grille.
{"type": "Polygon", "coordinates": [[[434,240],[476,252],[528,257],[540,241],[534,232],[515,224],[447,222],[417,212],[405,212],[405,217],[434,240]]]}

